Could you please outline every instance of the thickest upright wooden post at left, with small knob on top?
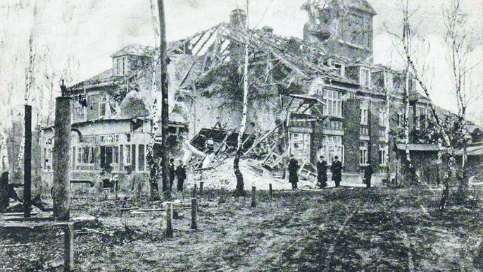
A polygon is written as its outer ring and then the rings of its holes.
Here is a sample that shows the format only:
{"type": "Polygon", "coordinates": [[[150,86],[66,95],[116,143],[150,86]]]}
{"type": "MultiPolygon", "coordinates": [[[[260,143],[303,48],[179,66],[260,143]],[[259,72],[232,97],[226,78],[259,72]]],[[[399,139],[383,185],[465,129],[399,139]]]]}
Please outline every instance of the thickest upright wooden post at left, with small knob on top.
{"type": "MultiPolygon", "coordinates": [[[[66,92],[64,85],[62,92],[66,92]]],[[[68,220],[70,216],[70,97],[56,98],[54,135],[54,218],[68,220]]]]}

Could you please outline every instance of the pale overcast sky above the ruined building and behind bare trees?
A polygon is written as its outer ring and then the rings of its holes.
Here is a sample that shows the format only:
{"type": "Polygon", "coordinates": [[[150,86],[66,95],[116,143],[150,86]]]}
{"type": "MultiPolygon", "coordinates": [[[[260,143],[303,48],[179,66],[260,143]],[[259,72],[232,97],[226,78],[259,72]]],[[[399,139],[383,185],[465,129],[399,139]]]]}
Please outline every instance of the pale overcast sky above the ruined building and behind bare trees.
{"type": "MultiPolygon", "coordinates": [[[[251,0],[252,27],[270,25],[278,35],[302,37],[307,16],[300,7],[306,0],[251,0]]],[[[384,23],[396,27],[400,18],[400,0],[368,0],[378,13],[374,20],[374,61],[398,66],[400,57],[392,49],[389,35],[382,30],[384,23]]],[[[411,1],[419,6],[414,20],[418,23],[420,39],[431,44],[425,51],[425,61],[432,66],[429,78],[432,82],[432,99],[449,109],[456,110],[451,92],[451,73],[444,47],[444,24],[441,13],[449,1],[411,1]]],[[[68,66],[69,84],[100,73],[112,66],[109,57],[127,44],[153,45],[155,35],[151,17],[150,0],[42,0],[37,2],[38,16],[33,19],[34,1],[0,1],[0,93],[8,86],[25,86],[25,67],[28,61],[28,39],[34,26],[34,47],[42,63],[36,73],[47,70],[60,78],[68,66]],[[49,64],[51,63],[51,64],[49,64]]],[[[470,27],[477,40],[472,55],[473,63],[483,62],[482,25],[483,1],[464,0],[469,13],[470,27]]],[[[238,1],[244,8],[244,1],[238,1]]],[[[206,30],[222,21],[228,22],[230,11],[237,7],[235,0],[165,0],[168,40],[182,39],[206,30]]],[[[482,65],[472,76],[474,89],[482,92],[482,65]]],[[[18,94],[22,103],[23,89],[18,94]]],[[[482,124],[483,99],[470,109],[472,120],[479,118],[482,124]]]]}

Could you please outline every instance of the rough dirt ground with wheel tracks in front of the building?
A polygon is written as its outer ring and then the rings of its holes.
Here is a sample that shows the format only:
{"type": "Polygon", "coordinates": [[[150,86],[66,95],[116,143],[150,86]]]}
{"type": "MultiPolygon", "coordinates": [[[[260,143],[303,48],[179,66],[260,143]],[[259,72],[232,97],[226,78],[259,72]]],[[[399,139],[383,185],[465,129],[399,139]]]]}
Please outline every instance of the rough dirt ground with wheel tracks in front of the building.
{"type": "MultiPolygon", "coordinates": [[[[163,211],[121,214],[119,201],[75,199],[73,216],[99,218],[76,225],[75,265],[77,271],[483,271],[481,204],[450,203],[441,213],[434,209],[438,197],[415,188],[341,187],[275,191],[272,200],[261,192],[251,208],[249,198],[210,191],[201,197],[199,230],[189,228],[190,211],[180,210],[172,238],[164,235],[163,211]]],[[[61,229],[0,230],[0,271],[62,271],[61,229]]]]}

